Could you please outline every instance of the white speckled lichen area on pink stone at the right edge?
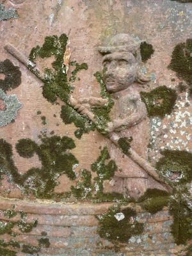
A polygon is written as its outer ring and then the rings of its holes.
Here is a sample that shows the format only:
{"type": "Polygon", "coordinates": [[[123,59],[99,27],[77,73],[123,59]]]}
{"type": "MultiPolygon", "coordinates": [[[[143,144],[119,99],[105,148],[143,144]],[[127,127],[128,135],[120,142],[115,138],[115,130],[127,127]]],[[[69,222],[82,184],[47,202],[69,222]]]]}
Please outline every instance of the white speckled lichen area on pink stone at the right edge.
{"type": "Polygon", "coordinates": [[[150,119],[150,146],[152,159],[159,158],[158,149],[190,151],[192,115],[188,93],[182,93],[176,101],[175,108],[163,120],[159,117],[150,119]],[[157,151],[156,151],[157,150],[157,151]]]}

